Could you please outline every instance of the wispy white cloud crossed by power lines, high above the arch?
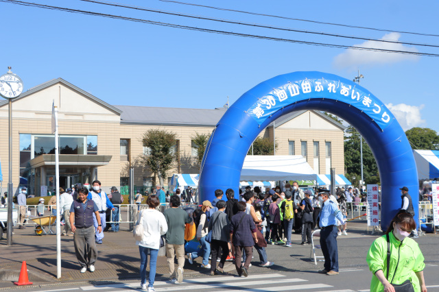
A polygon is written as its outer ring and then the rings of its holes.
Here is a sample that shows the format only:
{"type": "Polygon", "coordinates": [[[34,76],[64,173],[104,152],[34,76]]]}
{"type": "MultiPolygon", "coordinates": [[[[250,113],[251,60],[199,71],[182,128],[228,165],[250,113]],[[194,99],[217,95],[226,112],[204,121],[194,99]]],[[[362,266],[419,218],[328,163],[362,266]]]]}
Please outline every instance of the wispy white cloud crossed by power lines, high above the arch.
{"type": "MultiPolygon", "coordinates": [[[[390,34],[385,34],[381,40],[398,41],[400,36],[401,35],[396,32],[391,32],[390,34]]],[[[353,47],[373,47],[377,49],[389,49],[394,51],[418,51],[414,47],[408,47],[406,45],[392,42],[377,42],[376,40],[366,40],[366,42],[363,42],[359,45],[353,45],[353,47]]],[[[337,68],[357,68],[360,65],[389,64],[405,60],[417,61],[419,60],[419,56],[403,53],[385,53],[360,49],[346,49],[343,53],[340,53],[340,55],[335,56],[334,65],[337,68]]]]}

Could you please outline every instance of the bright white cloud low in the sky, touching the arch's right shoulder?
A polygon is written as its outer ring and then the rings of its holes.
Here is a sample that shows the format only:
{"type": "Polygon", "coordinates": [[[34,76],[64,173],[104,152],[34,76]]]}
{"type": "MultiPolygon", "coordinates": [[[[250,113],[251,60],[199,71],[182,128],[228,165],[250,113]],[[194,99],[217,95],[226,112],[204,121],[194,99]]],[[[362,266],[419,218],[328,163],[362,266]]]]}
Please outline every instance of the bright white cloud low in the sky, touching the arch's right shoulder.
{"type": "Polygon", "coordinates": [[[407,104],[386,104],[385,106],[394,114],[396,120],[399,122],[404,131],[423,125],[425,120],[421,119],[420,110],[424,105],[409,106],[407,104]]]}

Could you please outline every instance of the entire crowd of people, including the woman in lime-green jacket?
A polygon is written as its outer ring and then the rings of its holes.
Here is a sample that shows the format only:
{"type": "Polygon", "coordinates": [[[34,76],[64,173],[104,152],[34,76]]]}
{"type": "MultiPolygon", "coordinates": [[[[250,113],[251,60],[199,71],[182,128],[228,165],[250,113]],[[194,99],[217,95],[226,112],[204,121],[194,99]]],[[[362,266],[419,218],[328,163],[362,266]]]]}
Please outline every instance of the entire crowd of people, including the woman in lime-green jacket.
{"type": "MultiPolygon", "coordinates": [[[[108,230],[107,210],[112,210],[111,231],[119,231],[117,222],[120,210],[117,206],[123,202],[123,196],[116,187],[113,186],[107,195],[102,191],[98,180],[92,186],[91,191],[87,188],[67,191],[60,188],[59,212],[65,223],[63,234],[74,236],[75,254],[81,273],[85,273],[87,269],[95,271],[96,245],[102,244],[104,230],[108,230]]],[[[193,195],[186,191],[185,193],[189,197],[193,195]]],[[[223,199],[223,191],[217,189],[212,202],[206,200],[200,208],[181,208],[182,194],[177,189],[174,195],[169,195],[169,208],[161,212],[158,206],[166,199],[161,186],[156,186],[155,193],[145,198],[138,193],[135,197],[136,204],[141,202],[147,205],[147,208],[140,209],[136,222],[136,226],[142,227],[141,238],[136,240],[141,259],[141,289],[154,291],[160,247],[165,246],[169,278],[173,284],[183,281],[186,257],[190,265],[194,264],[195,258],[202,257],[201,267],[208,269],[212,276],[224,273],[226,261],[233,261],[238,276],[247,277],[252,266],[253,250],[259,255],[261,267],[270,267],[273,263],[268,260],[265,251],[267,245],[291,247],[293,232],[301,234],[301,245],[308,245],[311,243],[311,232],[316,229],[320,232],[320,245],[324,255],[324,269],[318,272],[329,276],[337,275],[339,267],[336,238],[337,235],[347,235],[346,202],[353,202],[349,197],[355,199],[357,196],[352,188],[338,188],[335,196],[323,188],[307,188],[303,191],[294,182],[292,186],[286,184],[284,190],[276,186],[262,192],[257,186],[253,190],[247,187],[244,191],[239,190],[238,198],[235,198],[235,191],[228,188],[224,198],[226,200],[223,199]],[[197,242],[198,247],[195,250],[189,248],[192,241],[197,242]],[[148,254],[149,277],[146,275],[148,254]],[[177,269],[174,265],[175,258],[177,269]]],[[[20,211],[25,206],[23,197],[25,201],[25,188],[18,196],[20,211]]],[[[56,196],[51,197],[47,207],[55,215],[57,210],[54,206],[56,196]]],[[[42,215],[45,208],[42,198],[37,206],[38,215],[42,215]]],[[[411,284],[414,291],[427,291],[423,278],[425,265],[422,252],[413,239],[406,239],[410,232],[412,235],[416,232],[413,217],[412,199],[408,188],[404,186],[401,188],[401,211],[394,217],[385,235],[379,237],[368,252],[368,265],[373,273],[371,291],[394,291],[392,288],[399,284],[411,284]],[[397,263],[396,267],[392,266],[395,260],[391,255],[396,249],[399,252],[402,250],[403,258],[407,258],[406,265],[399,269],[397,263]],[[385,250],[387,256],[383,256],[386,254],[385,250]],[[393,273],[391,278],[389,271],[393,273]]]]}

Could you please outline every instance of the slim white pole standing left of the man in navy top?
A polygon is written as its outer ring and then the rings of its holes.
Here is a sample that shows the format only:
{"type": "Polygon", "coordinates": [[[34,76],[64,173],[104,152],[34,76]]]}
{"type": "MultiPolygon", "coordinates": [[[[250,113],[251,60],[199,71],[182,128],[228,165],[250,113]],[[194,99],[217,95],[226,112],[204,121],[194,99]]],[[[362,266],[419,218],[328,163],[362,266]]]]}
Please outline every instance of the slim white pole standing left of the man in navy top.
{"type": "MultiPolygon", "coordinates": [[[[60,158],[58,149],[58,108],[52,108],[52,132],[55,130],[55,181],[56,181],[56,278],[61,278],[61,216],[60,216],[60,158]]],[[[66,218],[65,220],[69,220],[66,218]]]]}

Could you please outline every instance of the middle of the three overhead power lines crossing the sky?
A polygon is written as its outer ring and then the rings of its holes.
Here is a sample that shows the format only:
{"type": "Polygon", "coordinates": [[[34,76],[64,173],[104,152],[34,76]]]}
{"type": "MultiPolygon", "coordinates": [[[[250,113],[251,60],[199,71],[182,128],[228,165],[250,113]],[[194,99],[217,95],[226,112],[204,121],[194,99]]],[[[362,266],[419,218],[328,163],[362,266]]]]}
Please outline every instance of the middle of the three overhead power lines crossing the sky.
{"type": "Polygon", "coordinates": [[[246,25],[246,26],[251,26],[251,27],[276,29],[276,30],[282,30],[282,31],[286,31],[286,32],[298,32],[298,33],[304,33],[304,34],[318,34],[321,36],[333,36],[333,37],[337,37],[337,38],[351,38],[351,39],[355,39],[355,40],[370,40],[370,41],[375,41],[375,42],[388,42],[388,43],[400,44],[400,45],[414,45],[414,46],[436,47],[436,48],[439,47],[439,45],[430,45],[430,44],[423,44],[423,43],[418,43],[418,42],[401,42],[398,40],[365,38],[365,37],[361,37],[361,36],[346,36],[343,34],[332,34],[332,33],[328,33],[328,32],[313,32],[310,30],[295,29],[295,28],[290,28],[290,27],[274,27],[272,25],[263,25],[260,23],[246,23],[246,22],[242,22],[242,21],[231,21],[228,19],[214,19],[214,18],[206,17],[206,16],[193,15],[193,14],[183,14],[183,13],[179,13],[179,12],[170,12],[170,11],[157,10],[157,9],[152,9],[152,8],[142,8],[139,6],[125,5],[125,4],[121,4],[121,3],[108,2],[108,1],[97,1],[97,0],[80,0],[80,1],[97,3],[97,4],[101,4],[101,5],[109,5],[109,6],[120,7],[120,8],[129,8],[129,9],[141,10],[141,11],[147,11],[147,12],[155,12],[155,13],[161,13],[161,14],[167,14],[167,15],[182,16],[182,17],[188,17],[191,19],[202,19],[202,20],[206,20],[206,21],[217,21],[217,22],[221,22],[221,23],[230,23],[230,24],[236,24],[236,25],[246,25]]]}

